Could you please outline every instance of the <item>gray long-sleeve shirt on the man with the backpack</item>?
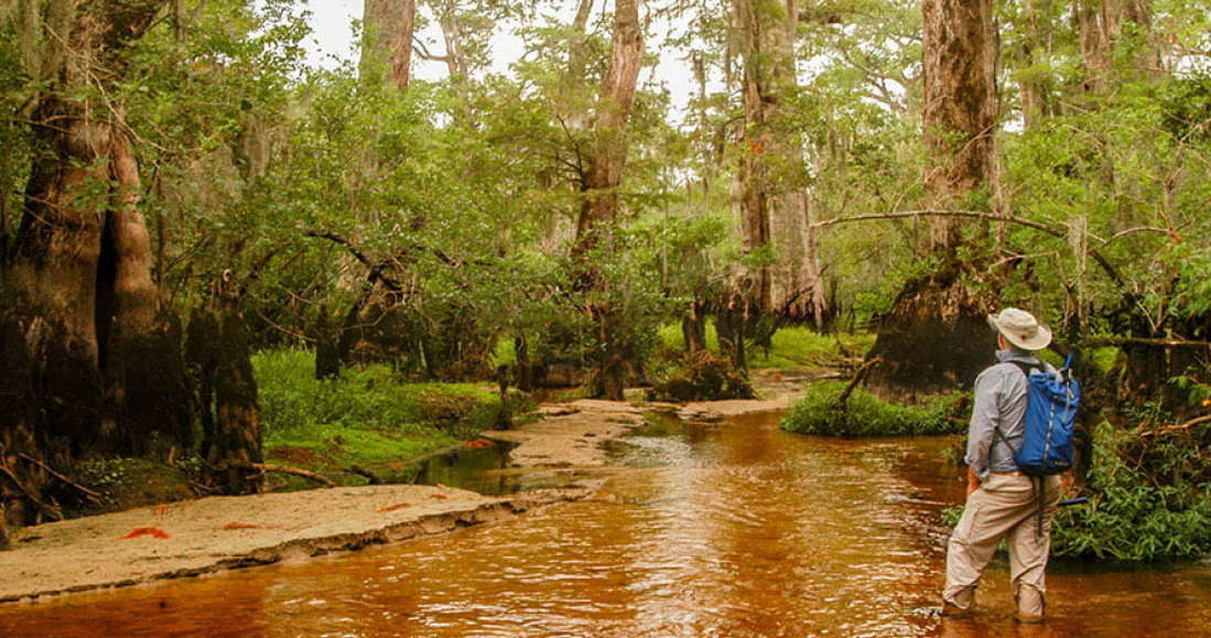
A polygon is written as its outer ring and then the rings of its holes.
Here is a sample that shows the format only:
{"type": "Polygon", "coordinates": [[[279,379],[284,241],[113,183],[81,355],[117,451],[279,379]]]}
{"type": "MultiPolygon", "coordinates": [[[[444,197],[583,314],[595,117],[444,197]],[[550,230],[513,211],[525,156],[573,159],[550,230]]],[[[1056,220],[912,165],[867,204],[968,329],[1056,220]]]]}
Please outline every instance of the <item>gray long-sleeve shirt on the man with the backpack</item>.
{"type": "Polygon", "coordinates": [[[1020,361],[1050,370],[1034,355],[1016,350],[998,350],[1000,363],[980,373],[976,378],[975,400],[971,407],[971,424],[968,426],[968,454],[964,461],[980,481],[988,472],[1012,472],[1014,450],[1022,446],[1022,426],[1026,418],[1026,375],[1012,362],[1020,361]],[[994,435],[997,427],[1004,438],[994,435]]]}

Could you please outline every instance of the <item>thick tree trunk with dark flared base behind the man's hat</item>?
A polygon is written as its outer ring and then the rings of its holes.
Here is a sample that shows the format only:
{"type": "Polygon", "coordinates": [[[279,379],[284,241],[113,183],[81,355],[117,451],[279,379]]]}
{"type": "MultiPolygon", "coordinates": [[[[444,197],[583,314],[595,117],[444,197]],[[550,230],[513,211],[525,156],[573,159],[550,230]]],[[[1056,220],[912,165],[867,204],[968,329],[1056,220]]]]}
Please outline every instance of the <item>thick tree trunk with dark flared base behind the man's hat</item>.
{"type": "MultiPolygon", "coordinates": [[[[930,165],[924,186],[943,209],[992,191],[995,179],[997,47],[991,0],[923,0],[924,143],[930,165]]],[[[978,293],[982,275],[960,263],[958,219],[930,224],[935,272],[905,283],[867,360],[878,358],[868,387],[884,396],[914,397],[970,387],[995,349],[985,315],[997,299],[978,293]]]]}

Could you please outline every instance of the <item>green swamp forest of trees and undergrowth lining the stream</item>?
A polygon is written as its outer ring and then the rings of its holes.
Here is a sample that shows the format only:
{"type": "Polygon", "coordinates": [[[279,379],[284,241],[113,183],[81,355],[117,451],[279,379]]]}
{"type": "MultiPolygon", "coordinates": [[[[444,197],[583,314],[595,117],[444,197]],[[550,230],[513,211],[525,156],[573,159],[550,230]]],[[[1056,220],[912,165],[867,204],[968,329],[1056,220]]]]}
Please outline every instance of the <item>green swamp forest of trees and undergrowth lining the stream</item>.
{"type": "Polygon", "coordinates": [[[790,430],[960,431],[1016,305],[1087,389],[1058,551],[1211,550],[1211,4],[358,27],[320,65],[303,4],[0,0],[0,521],[133,469],[180,477],[161,498],[402,479],[520,392],[737,397],[757,367],[827,378],[790,430]]]}

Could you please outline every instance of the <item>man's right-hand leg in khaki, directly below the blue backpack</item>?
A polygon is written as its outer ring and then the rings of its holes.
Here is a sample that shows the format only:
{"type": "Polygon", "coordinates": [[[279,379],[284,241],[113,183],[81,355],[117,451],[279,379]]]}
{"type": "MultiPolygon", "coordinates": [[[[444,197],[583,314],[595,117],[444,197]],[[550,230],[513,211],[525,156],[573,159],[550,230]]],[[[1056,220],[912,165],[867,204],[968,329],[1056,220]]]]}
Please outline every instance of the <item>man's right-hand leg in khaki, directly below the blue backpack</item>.
{"type": "MultiPolygon", "coordinates": [[[[1051,551],[1051,515],[1060,501],[1060,477],[1040,479],[1046,498],[1044,500],[1043,533],[1038,533],[1039,517],[1035,511],[1009,531],[1009,569],[1021,622],[1041,622],[1046,613],[1046,568],[1051,551]]],[[[1032,510],[1035,510],[1035,505],[1032,510]]]]}

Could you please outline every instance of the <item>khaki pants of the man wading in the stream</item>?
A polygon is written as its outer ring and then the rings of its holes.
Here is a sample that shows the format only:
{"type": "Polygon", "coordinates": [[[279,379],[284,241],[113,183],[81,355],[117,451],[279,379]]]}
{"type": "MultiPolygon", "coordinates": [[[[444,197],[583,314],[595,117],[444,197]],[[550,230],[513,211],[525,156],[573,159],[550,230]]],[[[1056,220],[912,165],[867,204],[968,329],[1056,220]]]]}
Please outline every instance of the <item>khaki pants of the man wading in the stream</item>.
{"type": "Polygon", "coordinates": [[[942,600],[966,610],[975,602],[980,575],[1001,538],[1009,545],[1009,569],[1017,611],[1043,616],[1046,584],[1044,571],[1051,550],[1051,515],[1060,501],[1060,477],[1043,478],[1043,534],[1037,534],[1038,500],[1028,476],[989,475],[968,496],[963,518],[951,535],[946,552],[946,588],[942,600]]]}

